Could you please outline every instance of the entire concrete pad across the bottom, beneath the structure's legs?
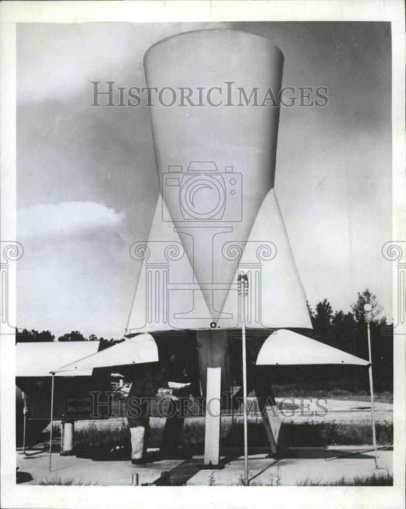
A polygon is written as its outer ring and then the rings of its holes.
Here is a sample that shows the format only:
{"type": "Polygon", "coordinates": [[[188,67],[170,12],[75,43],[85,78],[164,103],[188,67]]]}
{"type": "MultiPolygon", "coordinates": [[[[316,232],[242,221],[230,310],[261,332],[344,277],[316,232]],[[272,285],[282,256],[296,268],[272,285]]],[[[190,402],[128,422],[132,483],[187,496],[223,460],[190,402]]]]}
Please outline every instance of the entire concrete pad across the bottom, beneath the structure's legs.
{"type": "MultiPolygon", "coordinates": [[[[345,477],[365,476],[374,472],[392,473],[392,450],[378,451],[379,470],[375,470],[373,453],[368,447],[294,447],[293,457],[274,460],[266,454],[251,454],[249,457],[250,482],[253,485],[295,486],[303,480],[311,479],[320,483],[345,477]],[[361,451],[361,454],[346,456],[361,451]],[[338,459],[334,459],[338,457],[338,459]],[[326,461],[328,460],[328,461],[326,461]]],[[[32,453],[24,457],[17,451],[18,473],[22,481],[46,481],[46,479],[74,479],[82,483],[118,486],[131,485],[132,474],[138,473],[139,484],[156,482],[163,471],[169,472],[169,478],[175,483],[189,486],[199,485],[238,485],[244,474],[244,458],[223,457],[225,467],[222,470],[201,470],[202,457],[195,455],[188,459],[163,460],[142,466],[134,466],[128,454],[77,458],[75,456],[52,455],[52,470],[49,472],[49,455],[32,453]]],[[[149,451],[150,456],[154,453],[149,451]]],[[[23,484],[25,484],[23,483],[23,484]]]]}

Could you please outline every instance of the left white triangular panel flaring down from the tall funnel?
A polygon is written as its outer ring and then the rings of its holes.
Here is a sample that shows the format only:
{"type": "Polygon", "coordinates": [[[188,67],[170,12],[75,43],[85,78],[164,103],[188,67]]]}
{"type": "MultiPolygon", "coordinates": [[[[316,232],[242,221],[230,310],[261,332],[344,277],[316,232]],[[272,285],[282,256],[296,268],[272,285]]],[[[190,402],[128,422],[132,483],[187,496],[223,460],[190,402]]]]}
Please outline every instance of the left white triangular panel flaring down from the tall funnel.
{"type": "Polygon", "coordinates": [[[199,329],[212,321],[182,241],[173,223],[162,220],[162,210],[167,213],[159,196],[148,241],[130,249],[142,263],[126,334],[199,329]]]}

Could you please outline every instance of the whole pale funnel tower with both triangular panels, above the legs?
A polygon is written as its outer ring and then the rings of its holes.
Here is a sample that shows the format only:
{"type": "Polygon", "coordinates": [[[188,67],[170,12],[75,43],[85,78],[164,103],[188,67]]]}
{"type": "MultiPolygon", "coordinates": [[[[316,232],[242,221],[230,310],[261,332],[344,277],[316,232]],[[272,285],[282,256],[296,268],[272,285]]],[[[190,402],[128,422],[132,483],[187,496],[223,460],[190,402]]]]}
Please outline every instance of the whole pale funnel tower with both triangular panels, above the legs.
{"type": "Polygon", "coordinates": [[[248,328],[311,328],[273,190],[282,52],[205,30],[155,44],[144,67],[161,98],[150,107],[161,195],[149,239],[133,245],[142,263],[126,333],[239,328],[241,269],[248,328]]]}

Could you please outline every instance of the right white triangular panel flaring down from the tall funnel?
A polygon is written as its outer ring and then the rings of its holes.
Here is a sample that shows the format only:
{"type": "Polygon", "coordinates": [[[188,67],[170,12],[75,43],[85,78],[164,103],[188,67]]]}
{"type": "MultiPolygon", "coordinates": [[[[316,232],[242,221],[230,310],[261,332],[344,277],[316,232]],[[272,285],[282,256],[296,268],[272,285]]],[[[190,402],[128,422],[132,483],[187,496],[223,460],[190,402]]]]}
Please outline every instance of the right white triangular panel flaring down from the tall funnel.
{"type": "MultiPolygon", "coordinates": [[[[232,250],[233,243],[227,248],[232,250]]],[[[237,280],[239,270],[244,270],[249,280],[247,327],[312,328],[274,189],[267,194],[255,218],[234,280],[237,280]]],[[[236,292],[229,290],[223,310],[237,309],[237,305],[236,292]]],[[[227,325],[235,326],[234,322],[227,325]]]]}

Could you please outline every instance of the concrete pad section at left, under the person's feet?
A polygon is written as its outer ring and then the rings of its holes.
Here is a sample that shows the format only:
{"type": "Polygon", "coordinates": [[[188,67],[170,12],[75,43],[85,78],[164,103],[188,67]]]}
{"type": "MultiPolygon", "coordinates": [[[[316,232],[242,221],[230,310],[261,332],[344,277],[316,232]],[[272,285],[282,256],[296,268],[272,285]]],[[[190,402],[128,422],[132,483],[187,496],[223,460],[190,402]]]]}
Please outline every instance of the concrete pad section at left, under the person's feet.
{"type": "MultiPolygon", "coordinates": [[[[32,454],[28,452],[28,454],[32,454]]],[[[139,485],[153,483],[161,472],[172,470],[184,460],[162,460],[146,465],[132,465],[129,456],[121,456],[118,460],[76,458],[52,454],[52,470],[49,472],[49,454],[40,453],[25,457],[17,451],[17,467],[19,473],[31,474],[27,482],[34,480],[74,479],[76,482],[98,483],[102,486],[130,486],[133,473],[139,475],[139,485]]],[[[24,475],[24,478],[26,476],[24,475]]],[[[24,483],[25,484],[25,483],[24,483]]]]}

